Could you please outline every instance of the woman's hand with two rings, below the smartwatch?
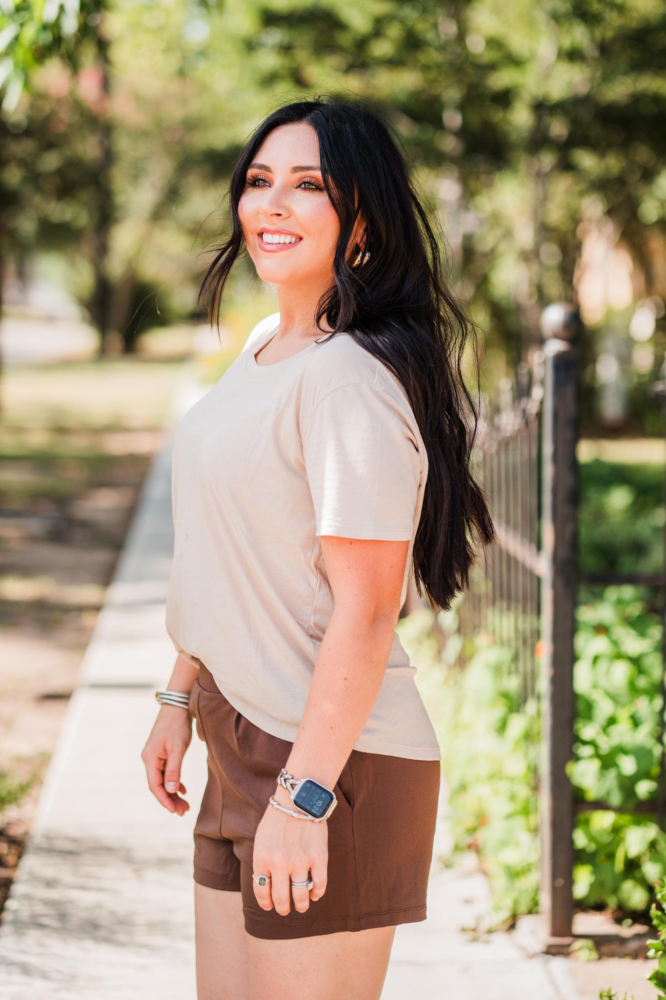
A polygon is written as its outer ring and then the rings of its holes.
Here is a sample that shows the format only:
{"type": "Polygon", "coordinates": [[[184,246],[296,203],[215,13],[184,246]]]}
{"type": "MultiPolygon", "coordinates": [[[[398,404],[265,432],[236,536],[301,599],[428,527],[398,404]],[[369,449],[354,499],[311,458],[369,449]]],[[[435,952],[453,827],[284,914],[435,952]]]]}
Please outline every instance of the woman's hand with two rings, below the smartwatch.
{"type": "MultiPolygon", "coordinates": [[[[274,798],[282,806],[295,809],[292,798],[285,789],[277,788],[274,798]]],[[[264,910],[275,906],[278,913],[287,916],[291,900],[299,913],[305,913],[313,901],[321,899],[327,888],[329,867],[329,821],[314,823],[310,819],[288,816],[269,802],[255,834],[253,870],[255,875],[270,875],[267,884],[259,885],[253,879],[255,896],[264,910]],[[294,882],[315,883],[308,888],[295,889],[294,882]]]]}

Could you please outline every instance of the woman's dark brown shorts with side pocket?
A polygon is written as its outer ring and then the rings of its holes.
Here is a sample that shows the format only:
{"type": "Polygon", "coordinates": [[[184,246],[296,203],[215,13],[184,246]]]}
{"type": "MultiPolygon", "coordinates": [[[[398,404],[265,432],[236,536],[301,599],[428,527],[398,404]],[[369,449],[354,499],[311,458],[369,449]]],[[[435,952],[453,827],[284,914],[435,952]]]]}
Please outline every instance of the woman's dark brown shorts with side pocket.
{"type": "Polygon", "coordinates": [[[305,913],[292,901],[283,916],[257,902],[253,846],[293,744],[238,712],[205,666],[190,705],[208,749],[208,783],[194,831],[195,882],[243,893],[249,934],[298,938],[425,919],[439,761],[352,750],[333,789],[337,806],[326,821],[326,892],[305,913]]]}

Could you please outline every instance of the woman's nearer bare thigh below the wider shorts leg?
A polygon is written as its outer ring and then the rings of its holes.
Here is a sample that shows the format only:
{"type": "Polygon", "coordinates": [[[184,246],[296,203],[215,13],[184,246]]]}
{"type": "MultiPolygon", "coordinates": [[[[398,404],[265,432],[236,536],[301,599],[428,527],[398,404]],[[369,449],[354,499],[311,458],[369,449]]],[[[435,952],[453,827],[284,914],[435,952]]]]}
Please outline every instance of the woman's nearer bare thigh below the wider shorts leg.
{"type": "Polygon", "coordinates": [[[249,1000],[379,1000],[395,927],[269,940],[248,935],[249,1000]]]}

